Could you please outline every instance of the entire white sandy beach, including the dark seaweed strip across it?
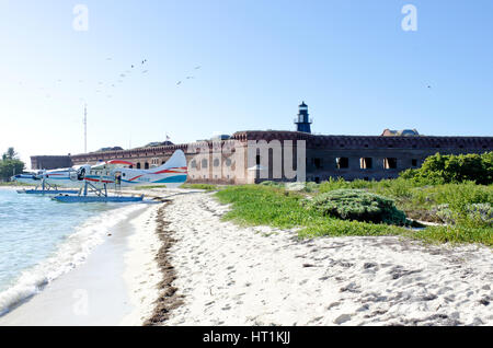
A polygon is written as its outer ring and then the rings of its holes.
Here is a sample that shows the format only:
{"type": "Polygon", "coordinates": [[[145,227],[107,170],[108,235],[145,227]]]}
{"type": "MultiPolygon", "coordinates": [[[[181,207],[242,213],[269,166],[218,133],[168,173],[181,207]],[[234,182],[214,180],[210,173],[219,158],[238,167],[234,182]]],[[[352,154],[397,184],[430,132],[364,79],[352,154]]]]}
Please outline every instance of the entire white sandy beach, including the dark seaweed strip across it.
{"type": "Polygon", "coordinates": [[[491,248],[298,240],[221,221],[229,207],[209,193],[140,193],[165,199],[136,208],[0,325],[493,324],[491,248]]]}

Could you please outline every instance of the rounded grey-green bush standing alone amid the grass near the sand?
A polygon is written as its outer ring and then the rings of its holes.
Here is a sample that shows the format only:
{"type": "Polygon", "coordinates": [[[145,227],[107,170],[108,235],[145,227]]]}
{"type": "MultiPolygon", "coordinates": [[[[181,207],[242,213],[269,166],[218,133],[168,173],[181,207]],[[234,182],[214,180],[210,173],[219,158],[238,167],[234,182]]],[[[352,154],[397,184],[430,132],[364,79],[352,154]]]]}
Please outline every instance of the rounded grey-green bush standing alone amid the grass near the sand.
{"type": "Polygon", "coordinates": [[[307,201],[308,209],[343,220],[405,225],[405,214],[392,199],[362,189],[336,189],[307,201]]]}

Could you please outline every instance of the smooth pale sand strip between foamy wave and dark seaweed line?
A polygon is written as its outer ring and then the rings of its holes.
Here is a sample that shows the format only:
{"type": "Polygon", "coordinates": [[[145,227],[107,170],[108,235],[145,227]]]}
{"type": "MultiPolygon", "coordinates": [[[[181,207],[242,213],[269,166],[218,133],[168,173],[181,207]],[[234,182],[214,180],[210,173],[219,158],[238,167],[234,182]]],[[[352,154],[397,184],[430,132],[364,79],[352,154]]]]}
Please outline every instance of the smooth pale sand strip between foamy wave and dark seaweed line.
{"type": "Polygon", "coordinates": [[[154,231],[146,224],[157,208],[130,209],[81,265],[0,316],[0,325],[141,325],[153,309],[153,288],[160,277],[149,254],[156,247],[152,242],[159,240],[149,239],[154,231]],[[146,268],[136,270],[136,266],[146,268]]]}

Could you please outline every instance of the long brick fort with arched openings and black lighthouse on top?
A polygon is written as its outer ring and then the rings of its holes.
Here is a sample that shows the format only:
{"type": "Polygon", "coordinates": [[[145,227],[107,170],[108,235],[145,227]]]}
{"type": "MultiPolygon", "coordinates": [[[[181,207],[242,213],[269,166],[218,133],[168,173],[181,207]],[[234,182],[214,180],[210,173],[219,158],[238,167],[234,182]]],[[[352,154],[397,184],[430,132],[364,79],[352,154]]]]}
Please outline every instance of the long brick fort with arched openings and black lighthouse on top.
{"type": "Polygon", "coordinates": [[[299,166],[296,150],[297,144],[302,142],[307,181],[321,182],[330,177],[378,181],[394,178],[404,170],[420,167],[427,156],[437,152],[461,154],[493,151],[493,137],[423,136],[415,129],[386,129],[380,136],[313,135],[311,123],[303,102],[295,118],[296,131],[245,130],[230,137],[220,136],[192,143],[173,144],[168,141],[129,150],[65,156],[35,155],[31,158],[31,166],[33,170],[49,170],[118,159],[135,163],[136,169],[151,169],[161,165],[175,150],[181,149],[187,158],[190,183],[253,184],[286,179],[284,164],[286,160],[293,160],[294,169],[299,166]],[[276,177],[273,170],[274,155],[279,153],[272,149],[274,142],[283,148],[279,154],[283,177],[276,177]],[[267,144],[268,159],[262,159],[261,152],[256,152],[253,159],[248,156],[251,143],[267,144]],[[288,159],[289,152],[285,150],[291,144],[295,151],[288,159]],[[244,154],[241,161],[238,161],[239,153],[244,154]]]}

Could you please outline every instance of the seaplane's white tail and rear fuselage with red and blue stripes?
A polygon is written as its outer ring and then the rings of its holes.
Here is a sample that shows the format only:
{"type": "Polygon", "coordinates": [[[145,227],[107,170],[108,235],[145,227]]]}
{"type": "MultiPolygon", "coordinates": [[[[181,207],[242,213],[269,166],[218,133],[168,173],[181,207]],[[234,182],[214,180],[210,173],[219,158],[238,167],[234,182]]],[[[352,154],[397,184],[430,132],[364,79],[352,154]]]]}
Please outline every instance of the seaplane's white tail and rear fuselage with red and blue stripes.
{"type": "Polygon", "coordinates": [[[185,153],[176,150],[161,166],[150,170],[122,169],[115,173],[121,174],[122,186],[162,185],[167,188],[176,188],[186,182],[187,167],[185,153]]]}

